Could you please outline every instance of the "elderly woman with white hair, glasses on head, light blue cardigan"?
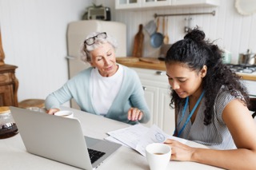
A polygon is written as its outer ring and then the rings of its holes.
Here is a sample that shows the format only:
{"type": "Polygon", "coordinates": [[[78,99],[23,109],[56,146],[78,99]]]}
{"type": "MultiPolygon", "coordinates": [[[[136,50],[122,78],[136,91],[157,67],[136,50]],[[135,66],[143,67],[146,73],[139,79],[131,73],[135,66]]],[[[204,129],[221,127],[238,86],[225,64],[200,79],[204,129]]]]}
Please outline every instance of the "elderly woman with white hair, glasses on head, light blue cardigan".
{"type": "Polygon", "coordinates": [[[62,88],[46,97],[47,113],[58,112],[71,98],[82,111],[128,124],[146,123],[150,110],[142,84],[134,70],[116,63],[117,43],[106,33],[94,32],[82,44],[82,61],[92,67],[84,69],[62,88]]]}

